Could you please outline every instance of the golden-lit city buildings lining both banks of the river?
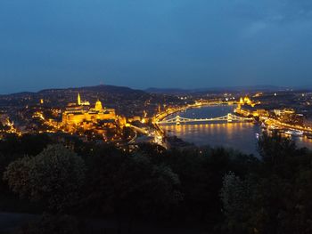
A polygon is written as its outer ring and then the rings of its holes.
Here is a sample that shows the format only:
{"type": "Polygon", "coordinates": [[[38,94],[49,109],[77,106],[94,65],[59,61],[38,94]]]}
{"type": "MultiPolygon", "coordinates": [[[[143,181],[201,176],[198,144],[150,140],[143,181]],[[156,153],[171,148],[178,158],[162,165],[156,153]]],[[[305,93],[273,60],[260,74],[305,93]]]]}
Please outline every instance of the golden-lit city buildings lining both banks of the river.
{"type": "MultiPolygon", "coordinates": [[[[19,129],[21,133],[72,133],[80,135],[81,138],[88,139],[91,136],[97,137],[98,140],[115,142],[122,141],[122,139],[132,141],[132,139],[139,138],[141,134],[151,137],[155,136],[154,138],[158,139],[160,136],[163,136],[163,133],[161,128],[157,124],[155,125],[155,123],[163,117],[187,108],[224,104],[237,105],[234,111],[238,116],[252,117],[255,120],[266,123],[266,125],[281,125],[285,128],[291,128],[291,126],[297,126],[297,128],[301,126],[303,128],[308,126],[305,122],[305,117],[291,109],[293,108],[291,105],[287,103],[274,105],[272,101],[275,101],[276,96],[274,95],[273,98],[265,97],[267,98],[266,100],[262,93],[253,96],[257,101],[251,100],[248,96],[237,98],[237,96],[242,95],[242,93],[239,93],[236,97],[234,95],[226,95],[223,98],[215,97],[207,100],[202,98],[193,99],[190,103],[184,102],[181,104],[177,102],[176,105],[166,104],[163,107],[160,103],[156,106],[155,102],[152,117],[148,116],[145,105],[141,107],[140,112],[125,115],[125,111],[120,111],[119,105],[113,105],[115,109],[112,109],[105,107],[100,100],[95,101],[98,93],[93,95],[84,94],[88,99],[94,100],[94,103],[83,100],[80,93],[72,91],[70,100],[76,95],[77,100],[70,101],[70,103],[68,103],[68,96],[63,100],[60,98],[62,105],[51,102],[51,98],[44,100],[42,97],[39,97],[37,104],[27,104],[26,107],[22,104],[19,105],[23,106],[23,109],[20,111],[9,112],[10,109],[7,109],[7,113],[0,112],[0,133],[17,133],[16,129],[19,129]],[[288,108],[284,109],[283,107],[288,108]],[[123,116],[117,115],[116,109],[123,116]],[[8,113],[14,119],[14,122],[17,123],[17,128],[10,121],[8,113]],[[14,113],[15,118],[12,115],[14,113]],[[141,115],[139,115],[140,113],[141,115]],[[127,116],[127,118],[124,116],[127,116]],[[127,130],[129,126],[132,132],[126,133],[129,131],[127,130]],[[137,133],[139,133],[139,137],[137,137],[137,133]]],[[[148,107],[149,103],[146,103],[146,105],[148,107]]],[[[127,109],[132,109],[132,106],[127,107],[127,109]]],[[[300,109],[296,110],[300,112],[300,109]]]]}

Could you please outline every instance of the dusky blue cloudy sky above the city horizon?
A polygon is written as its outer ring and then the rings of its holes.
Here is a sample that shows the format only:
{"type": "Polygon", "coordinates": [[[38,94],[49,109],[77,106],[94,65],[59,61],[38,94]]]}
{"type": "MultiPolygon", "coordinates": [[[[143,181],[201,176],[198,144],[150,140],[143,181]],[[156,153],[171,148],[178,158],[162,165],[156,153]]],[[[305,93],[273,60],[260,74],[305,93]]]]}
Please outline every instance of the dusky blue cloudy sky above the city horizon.
{"type": "Polygon", "coordinates": [[[0,93],[312,85],[311,0],[1,0],[0,93]]]}

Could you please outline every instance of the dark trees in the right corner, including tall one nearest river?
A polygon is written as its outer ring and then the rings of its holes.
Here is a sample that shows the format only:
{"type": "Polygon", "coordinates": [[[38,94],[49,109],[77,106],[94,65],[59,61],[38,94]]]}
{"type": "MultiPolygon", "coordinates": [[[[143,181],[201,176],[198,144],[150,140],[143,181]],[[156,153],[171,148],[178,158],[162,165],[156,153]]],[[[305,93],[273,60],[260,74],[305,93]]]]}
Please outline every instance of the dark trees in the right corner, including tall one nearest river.
{"type": "Polygon", "coordinates": [[[227,173],[221,190],[226,233],[311,233],[312,154],[280,135],[259,140],[257,170],[227,173]]]}

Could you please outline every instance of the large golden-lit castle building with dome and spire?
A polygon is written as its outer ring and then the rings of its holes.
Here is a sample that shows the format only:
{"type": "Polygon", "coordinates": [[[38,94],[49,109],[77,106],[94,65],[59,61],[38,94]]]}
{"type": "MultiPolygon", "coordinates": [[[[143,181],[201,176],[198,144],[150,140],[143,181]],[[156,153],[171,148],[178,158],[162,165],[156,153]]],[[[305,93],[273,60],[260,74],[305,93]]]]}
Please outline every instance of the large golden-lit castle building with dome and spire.
{"type": "Polygon", "coordinates": [[[90,108],[89,101],[81,101],[78,93],[77,104],[70,105],[62,113],[63,125],[80,125],[82,123],[97,123],[102,120],[115,120],[115,109],[103,108],[101,101],[96,101],[94,108],[90,108]]]}

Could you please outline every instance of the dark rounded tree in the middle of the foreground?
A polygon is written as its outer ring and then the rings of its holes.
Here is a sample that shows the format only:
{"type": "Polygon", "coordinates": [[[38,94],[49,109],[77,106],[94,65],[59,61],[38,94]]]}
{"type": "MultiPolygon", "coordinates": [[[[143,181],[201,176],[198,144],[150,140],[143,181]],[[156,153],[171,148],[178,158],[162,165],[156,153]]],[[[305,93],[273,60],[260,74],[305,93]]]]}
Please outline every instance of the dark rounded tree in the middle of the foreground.
{"type": "Polygon", "coordinates": [[[164,215],[183,198],[177,190],[177,174],[166,165],[152,165],[149,158],[140,155],[120,165],[112,182],[109,198],[117,200],[116,208],[125,214],[164,215]]]}

